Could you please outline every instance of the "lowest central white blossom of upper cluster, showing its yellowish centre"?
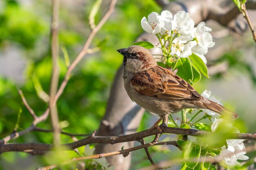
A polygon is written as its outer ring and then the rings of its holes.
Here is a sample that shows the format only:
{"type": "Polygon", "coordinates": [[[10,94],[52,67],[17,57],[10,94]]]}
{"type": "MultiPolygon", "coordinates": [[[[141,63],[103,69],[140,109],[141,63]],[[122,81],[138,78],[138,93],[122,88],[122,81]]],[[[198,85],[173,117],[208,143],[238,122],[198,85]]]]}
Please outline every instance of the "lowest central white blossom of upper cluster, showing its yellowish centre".
{"type": "Polygon", "coordinates": [[[176,54],[178,57],[189,57],[192,54],[191,47],[186,44],[193,38],[191,36],[180,36],[173,40],[171,44],[171,55],[176,54]]]}

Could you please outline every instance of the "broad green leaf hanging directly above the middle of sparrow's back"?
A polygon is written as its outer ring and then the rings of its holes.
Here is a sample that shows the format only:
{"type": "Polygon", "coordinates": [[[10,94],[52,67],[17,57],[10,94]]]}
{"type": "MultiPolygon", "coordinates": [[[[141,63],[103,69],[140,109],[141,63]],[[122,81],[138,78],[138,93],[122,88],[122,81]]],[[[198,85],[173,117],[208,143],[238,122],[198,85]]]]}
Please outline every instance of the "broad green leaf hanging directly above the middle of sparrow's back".
{"type": "Polygon", "coordinates": [[[191,62],[188,58],[180,58],[174,65],[173,70],[178,69],[177,75],[185,81],[193,80],[191,62]]]}

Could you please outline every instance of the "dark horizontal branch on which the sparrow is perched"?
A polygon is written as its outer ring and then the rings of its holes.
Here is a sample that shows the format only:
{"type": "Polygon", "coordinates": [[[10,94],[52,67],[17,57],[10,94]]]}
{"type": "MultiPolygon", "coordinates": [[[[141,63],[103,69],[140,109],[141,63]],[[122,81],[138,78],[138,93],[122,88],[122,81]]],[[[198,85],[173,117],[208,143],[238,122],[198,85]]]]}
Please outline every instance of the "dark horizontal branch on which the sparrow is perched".
{"type": "MultiPolygon", "coordinates": [[[[182,129],[182,128],[173,128],[160,126],[162,129],[162,133],[169,134],[179,134],[179,135],[190,135],[190,136],[207,136],[211,134],[211,132],[207,131],[198,131],[196,129],[182,129]]],[[[159,133],[158,129],[153,129],[150,132],[148,130],[141,131],[138,133],[133,133],[130,135],[122,135],[122,136],[89,136],[84,139],[80,139],[76,142],[72,142],[69,144],[63,144],[66,150],[74,150],[75,148],[79,148],[81,146],[87,144],[116,144],[130,141],[140,141],[141,139],[156,135],[159,133]]],[[[225,139],[248,139],[248,140],[256,140],[256,134],[251,133],[232,133],[230,136],[225,137],[225,139]]],[[[26,143],[26,144],[2,144],[0,145],[0,153],[10,152],[10,151],[24,151],[24,150],[44,150],[49,151],[53,147],[52,144],[39,144],[39,143],[26,143]]]]}

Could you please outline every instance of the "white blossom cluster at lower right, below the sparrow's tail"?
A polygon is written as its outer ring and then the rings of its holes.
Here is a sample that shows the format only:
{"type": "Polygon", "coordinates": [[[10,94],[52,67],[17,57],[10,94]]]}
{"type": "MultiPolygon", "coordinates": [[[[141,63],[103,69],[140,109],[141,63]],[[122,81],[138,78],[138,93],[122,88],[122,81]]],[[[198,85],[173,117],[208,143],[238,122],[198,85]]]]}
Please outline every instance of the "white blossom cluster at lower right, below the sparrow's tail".
{"type": "MultiPolygon", "coordinates": [[[[211,129],[213,132],[216,131],[218,125],[223,123],[224,119],[216,119],[213,124],[211,125],[211,129]]],[[[236,133],[240,133],[240,131],[234,127],[232,124],[227,124],[232,129],[235,129],[236,133]]],[[[243,143],[243,139],[227,139],[227,146],[222,146],[220,151],[220,157],[222,157],[222,161],[227,164],[227,166],[236,166],[240,165],[237,161],[240,160],[247,160],[249,157],[245,156],[246,148],[243,143]]]]}

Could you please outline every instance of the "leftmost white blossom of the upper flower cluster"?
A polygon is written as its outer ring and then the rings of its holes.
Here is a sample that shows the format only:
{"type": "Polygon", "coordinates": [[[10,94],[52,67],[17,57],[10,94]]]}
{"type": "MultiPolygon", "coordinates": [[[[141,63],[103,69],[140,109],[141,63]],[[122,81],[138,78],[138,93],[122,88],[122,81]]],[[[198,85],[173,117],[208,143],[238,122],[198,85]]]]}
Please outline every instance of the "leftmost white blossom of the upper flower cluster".
{"type": "Polygon", "coordinates": [[[153,34],[159,33],[162,29],[162,26],[159,23],[158,16],[159,16],[158,13],[152,12],[148,15],[148,20],[146,19],[146,17],[143,17],[141,19],[141,27],[147,33],[153,33],[153,34]]]}

